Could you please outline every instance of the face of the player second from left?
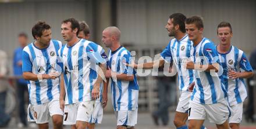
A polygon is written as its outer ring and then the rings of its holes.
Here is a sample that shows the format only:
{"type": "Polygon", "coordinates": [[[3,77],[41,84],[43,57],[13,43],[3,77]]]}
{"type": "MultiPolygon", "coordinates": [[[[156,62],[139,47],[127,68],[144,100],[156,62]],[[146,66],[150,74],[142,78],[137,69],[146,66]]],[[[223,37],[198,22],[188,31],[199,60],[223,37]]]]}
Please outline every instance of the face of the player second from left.
{"type": "Polygon", "coordinates": [[[76,32],[77,30],[72,30],[70,22],[61,24],[61,35],[65,41],[72,40],[76,36],[76,32]]]}

